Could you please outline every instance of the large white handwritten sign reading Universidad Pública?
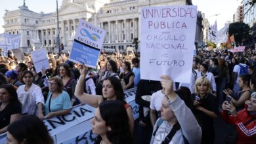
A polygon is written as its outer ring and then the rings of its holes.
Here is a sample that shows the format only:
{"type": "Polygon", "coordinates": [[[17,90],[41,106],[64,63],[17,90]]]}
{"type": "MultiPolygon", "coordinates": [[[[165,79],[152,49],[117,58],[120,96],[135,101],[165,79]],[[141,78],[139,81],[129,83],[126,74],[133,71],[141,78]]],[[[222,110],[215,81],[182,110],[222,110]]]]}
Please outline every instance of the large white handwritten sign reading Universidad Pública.
{"type": "Polygon", "coordinates": [[[141,9],[141,79],[169,75],[175,82],[190,82],[196,19],[196,6],[141,9]]]}

